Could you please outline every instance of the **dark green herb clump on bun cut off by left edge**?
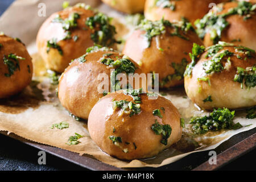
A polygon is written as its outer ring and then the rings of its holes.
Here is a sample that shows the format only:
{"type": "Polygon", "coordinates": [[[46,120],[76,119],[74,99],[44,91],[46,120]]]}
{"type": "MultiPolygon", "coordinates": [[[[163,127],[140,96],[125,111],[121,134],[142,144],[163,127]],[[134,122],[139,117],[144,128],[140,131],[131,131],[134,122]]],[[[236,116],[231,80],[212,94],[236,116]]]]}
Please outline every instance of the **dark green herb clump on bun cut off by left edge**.
{"type": "Polygon", "coordinates": [[[8,56],[4,55],[3,64],[7,65],[9,71],[9,73],[5,73],[5,77],[11,77],[17,69],[20,70],[19,60],[24,59],[23,57],[16,56],[14,53],[10,53],[8,56]]]}

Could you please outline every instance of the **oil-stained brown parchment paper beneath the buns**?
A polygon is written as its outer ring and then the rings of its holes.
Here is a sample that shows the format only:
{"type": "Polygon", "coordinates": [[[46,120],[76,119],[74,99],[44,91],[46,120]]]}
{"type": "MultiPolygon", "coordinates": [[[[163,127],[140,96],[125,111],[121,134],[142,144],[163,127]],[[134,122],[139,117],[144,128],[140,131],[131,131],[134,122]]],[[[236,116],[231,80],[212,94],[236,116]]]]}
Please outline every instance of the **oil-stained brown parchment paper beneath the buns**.
{"type": "MultiPolygon", "coordinates": [[[[117,25],[117,31],[120,32],[119,38],[121,38],[121,35],[122,38],[126,38],[129,34],[131,27],[123,25],[126,24],[125,15],[100,4],[96,0],[70,2],[71,5],[77,2],[85,2],[98,6],[100,11],[115,18],[114,23],[117,25]]],[[[9,131],[9,133],[14,133],[35,142],[77,152],[80,155],[89,154],[104,163],[117,167],[160,167],[175,162],[193,152],[213,150],[233,135],[251,130],[256,126],[256,119],[246,119],[245,111],[236,111],[234,122],[240,122],[245,127],[238,130],[207,133],[201,137],[191,135],[191,131],[188,128],[184,128],[182,139],[155,158],[129,162],[118,160],[105,154],[90,138],[87,122],[76,121],[69,116],[68,111],[61,106],[56,97],[55,86],[49,84],[47,77],[42,76],[46,70],[43,67],[43,60],[36,53],[34,43],[36,34],[47,16],[61,10],[62,3],[63,1],[61,0],[17,0],[0,18],[0,31],[9,36],[18,37],[26,43],[28,51],[33,58],[35,72],[34,81],[22,93],[6,100],[0,100],[0,130],[9,131]],[[46,5],[46,17],[38,16],[39,3],[46,5]],[[53,124],[63,121],[69,123],[67,129],[51,129],[53,124]],[[81,143],[69,146],[67,144],[68,138],[75,135],[75,133],[84,137],[79,139],[81,143]]],[[[185,118],[187,123],[193,116],[209,114],[206,111],[200,111],[199,108],[192,104],[186,97],[183,87],[163,91],[161,94],[172,101],[179,109],[181,117],[185,118]]],[[[189,125],[187,124],[186,126],[188,127],[189,125]]]]}

